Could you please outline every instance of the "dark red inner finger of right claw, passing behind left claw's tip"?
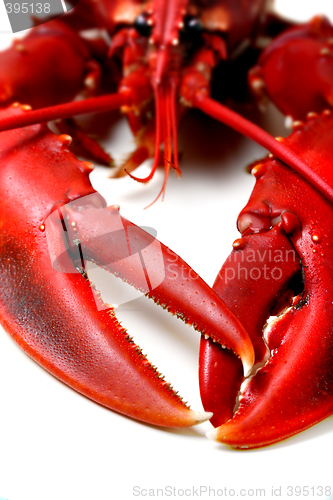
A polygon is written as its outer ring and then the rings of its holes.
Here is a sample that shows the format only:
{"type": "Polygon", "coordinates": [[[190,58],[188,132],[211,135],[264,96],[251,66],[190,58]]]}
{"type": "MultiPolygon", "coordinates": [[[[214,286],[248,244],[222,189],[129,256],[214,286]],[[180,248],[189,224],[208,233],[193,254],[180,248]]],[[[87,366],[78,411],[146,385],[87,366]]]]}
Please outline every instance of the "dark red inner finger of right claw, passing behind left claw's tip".
{"type": "MultiPolygon", "coordinates": [[[[300,272],[299,258],[281,224],[244,236],[233,246],[213,288],[250,335],[256,370],[269,356],[262,326],[270,315],[290,304],[292,279],[300,272]]],[[[233,416],[244,380],[239,360],[202,338],[199,376],[204,408],[213,412],[211,422],[215,427],[222,425],[233,416]]]]}

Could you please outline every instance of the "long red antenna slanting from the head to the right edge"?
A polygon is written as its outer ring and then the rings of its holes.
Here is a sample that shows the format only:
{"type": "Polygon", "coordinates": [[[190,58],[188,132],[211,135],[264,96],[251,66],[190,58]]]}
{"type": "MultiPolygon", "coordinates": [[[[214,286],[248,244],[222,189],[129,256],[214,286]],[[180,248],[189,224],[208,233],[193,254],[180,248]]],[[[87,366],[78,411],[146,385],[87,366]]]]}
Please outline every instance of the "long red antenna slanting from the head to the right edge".
{"type": "Polygon", "coordinates": [[[333,202],[333,187],[319,174],[314,172],[311,167],[301,160],[286,144],[279,142],[257,125],[254,125],[238,113],[231,111],[229,108],[214,101],[201,92],[196,94],[193,105],[212,118],[229,125],[229,127],[237,130],[237,132],[240,132],[260,146],[268,149],[268,151],[277,156],[279,160],[286,163],[288,167],[314,186],[331,203],[333,202]]]}

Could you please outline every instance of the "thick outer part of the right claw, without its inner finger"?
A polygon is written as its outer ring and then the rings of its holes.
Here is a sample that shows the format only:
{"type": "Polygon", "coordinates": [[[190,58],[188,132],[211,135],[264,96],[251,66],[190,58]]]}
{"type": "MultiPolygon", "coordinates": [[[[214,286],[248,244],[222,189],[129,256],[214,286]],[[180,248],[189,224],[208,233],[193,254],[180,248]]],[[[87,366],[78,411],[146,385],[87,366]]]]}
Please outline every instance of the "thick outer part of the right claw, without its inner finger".
{"type": "MultiPolygon", "coordinates": [[[[325,175],[329,184],[332,124],[326,112],[286,139],[288,147],[325,175]]],[[[304,288],[266,332],[271,356],[248,380],[233,418],[210,433],[236,448],[285,439],[333,412],[332,205],[276,159],[255,165],[253,173],[257,182],[240,214],[239,229],[253,232],[253,240],[261,238],[267,227],[273,228],[269,233],[282,229],[301,259],[304,288]]],[[[272,251],[280,249],[280,242],[276,244],[272,251]]],[[[250,288],[256,290],[256,286],[250,288]]],[[[237,314],[247,321],[245,307],[237,314]]],[[[263,326],[262,321],[259,327],[263,326]]]]}

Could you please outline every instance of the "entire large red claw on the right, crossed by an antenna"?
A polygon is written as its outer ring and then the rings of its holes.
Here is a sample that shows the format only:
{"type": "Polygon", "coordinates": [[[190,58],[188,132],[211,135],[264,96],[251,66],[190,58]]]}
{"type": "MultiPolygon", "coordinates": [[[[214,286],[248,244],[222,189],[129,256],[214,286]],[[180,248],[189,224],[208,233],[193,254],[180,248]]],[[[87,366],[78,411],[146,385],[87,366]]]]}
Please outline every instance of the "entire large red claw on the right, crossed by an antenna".
{"type": "MultiPolygon", "coordinates": [[[[333,181],[329,168],[332,122],[330,113],[324,112],[308,120],[301,130],[297,129],[285,140],[290,149],[330,185],[333,181]]],[[[215,416],[216,425],[222,425],[211,431],[209,437],[236,448],[256,448],[280,441],[333,412],[332,205],[276,159],[268,158],[256,164],[252,173],[256,185],[238,220],[243,237],[236,241],[236,248],[223,266],[214,288],[221,297],[230,295],[227,305],[247,328],[255,345],[256,361],[262,361],[262,365],[256,367],[257,371],[254,370],[242,386],[235,409],[232,406],[228,409],[231,413],[228,421],[218,396],[213,397],[209,392],[205,396],[208,402],[217,401],[216,405],[222,407],[221,421],[215,416]],[[263,257],[265,239],[267,253],[263,257]],[[249,260],[251,249],[257,257],[252,263],[249,260]],[[270,255],[274,258],[281,251],[281,255],[292,257],[290,250],[301,260],[302,279],[299,279],[298,258],[288,265],[269,262],[270,255]],[[260,256],[263,259],[261,267],[260,256]],[[266,264],[267,275],[272,271],[269,266],[277,266],[281,269],[278,273],[281,281],[275,281],[274,276],[266,281],[263,274],[260,281],[256,281],[254,274],[252,280],[242,277],[226,283],[230,269],[235,270],[238,263],[249,275],[253,264],[255,273],[258,269],[262,272],[266,264]],[[263,301],[260,306],[256,303],[258,295],[263,301]],[[261,330],[267,317],[276,313],[278,317],[263,336],[261,330]],[[261,356],[264,352],[262,338],[269,349],[267,360],[261,356]]],[[[216,350],[215,346],[213,349],[216,350]]],[[[214,352],[214,362],[220,354],[214,352]]],[[[211,357],[213,359],[213,355],[211,357]]],[[[204,352],[202,358],[202,362],[209,362],[204,352]]],[[[236,371],[235,360],[232,366],[236,371]]],[[[222,367],[215,372],[223,377],[222,367]]],[[[230,394],[235,404],[240,382],[242,377],[238,376],[238,385],[232,386],[228,374],[226,379],[215,383],[216,387],[219,384],[222,387],[222,397],[226,397],[229,405],[230,394]]],[[[204,407],[213,409],[214,405],[204,404],[204,407]]]]}

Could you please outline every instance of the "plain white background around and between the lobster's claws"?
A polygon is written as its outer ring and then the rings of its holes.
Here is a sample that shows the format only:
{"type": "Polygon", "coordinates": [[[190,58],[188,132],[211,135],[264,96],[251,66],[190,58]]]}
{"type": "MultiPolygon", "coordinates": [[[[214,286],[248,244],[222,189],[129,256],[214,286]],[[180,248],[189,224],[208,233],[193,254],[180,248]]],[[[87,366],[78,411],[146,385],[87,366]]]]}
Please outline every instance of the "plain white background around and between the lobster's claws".
{"type": "MultiPolygon", "coordinates": [[[[283,11],[292,7],[299,18],[314,13],[305,12],[303,1],[285,3],[283,11]]],[[[333,20],[331,2],[323,8],[315,3],[317,12],[331,7],[333,20]]],[[[6,23],[0,25],[0,31],[6,29],[6,23]]],[[[0,43],[7,43],[4,34],[0,43]]],[[[282,123],[270,110],[266,126],[274,135],[287,134],[282,123]]],[[[108,147],[118,159],[133,147],[125,121],[112,129],[108,147]]],[[[125,217],[155,228],[161,241],[212,284],[237,237],[236,217],[254,183],[244,167],[264,151],[199,114],[183,123],[181,150],[182,178],[171,175],[164,202],[148,210],[144,207],[160,189],[162,172],[146,186],[109,179],[105,169],[96,169],[92,180],[109,204],[119,203],[125,217]]],[[[144,176],[146,169],[137,175],[144,176]]],[[[197,332],[144,298],[121,308],[119,316],[176,390],[192,408],[201,409],[197,332]]],[[[232,495],[230,489],[237,495],[240,488],[265,488],[266,498],[272,497],[272,487],[281,486],[281,498],[296,498],[287,496],[287,486],[333,486],[327,458],[333,417],[268,448],[231,450],[205,437],[209,423],[161,430],[92,403],[31,361],[4,331],[0,381],[0,497],[8,500],[127,500],[134,486],[156,494],[157,488],[171,486],[180,489],[179,496],[206,486],[220,489],[223,497],[232,495]]],[[[161,492],[155,496],[160,497],[161,492]]],[[[251,497],[250,490],[245,498],[251,497]]]]}

